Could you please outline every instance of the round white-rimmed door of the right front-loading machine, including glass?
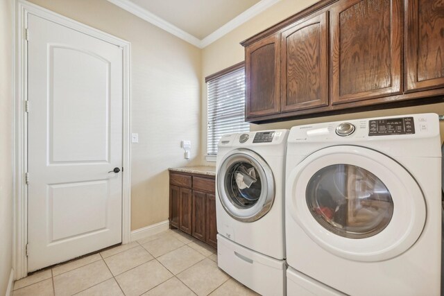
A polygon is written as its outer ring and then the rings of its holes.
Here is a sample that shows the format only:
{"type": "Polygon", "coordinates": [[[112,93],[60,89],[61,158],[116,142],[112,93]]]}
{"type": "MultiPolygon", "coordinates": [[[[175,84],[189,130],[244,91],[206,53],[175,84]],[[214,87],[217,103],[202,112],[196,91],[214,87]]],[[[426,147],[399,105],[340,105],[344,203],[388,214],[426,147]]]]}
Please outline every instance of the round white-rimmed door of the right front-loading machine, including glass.
{"type": "Polygon", "coordinates": [[[398,256],[425,225],[425,198],[416,180],[394,159],[359,146],[309,155],[287,177],[285,194],[291,218],[307,236],[345,259],[398,256]]]}

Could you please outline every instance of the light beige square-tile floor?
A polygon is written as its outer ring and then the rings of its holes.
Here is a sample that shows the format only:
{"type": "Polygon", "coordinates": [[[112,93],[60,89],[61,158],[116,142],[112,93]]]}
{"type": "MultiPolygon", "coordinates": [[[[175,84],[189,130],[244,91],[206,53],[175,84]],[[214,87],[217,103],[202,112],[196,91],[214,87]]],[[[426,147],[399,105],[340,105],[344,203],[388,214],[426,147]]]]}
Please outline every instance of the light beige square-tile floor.
{"type": "Polygon", "coordinates": [[[216,249],[177,230],[167,230],[20,279],[13,295],[257,293],[217,267],[216,249]]]}

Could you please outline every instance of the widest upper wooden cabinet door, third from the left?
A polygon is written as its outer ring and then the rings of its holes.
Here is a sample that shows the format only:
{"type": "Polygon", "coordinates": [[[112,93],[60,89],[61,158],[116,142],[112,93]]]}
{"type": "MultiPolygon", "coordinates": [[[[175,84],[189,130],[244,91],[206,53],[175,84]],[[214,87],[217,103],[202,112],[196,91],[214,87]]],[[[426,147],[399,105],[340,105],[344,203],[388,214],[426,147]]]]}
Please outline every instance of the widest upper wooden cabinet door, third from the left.
{"type": "Polygon", "coordinates": [[[330,17],[332,104],[399,94],[402,0],[342,0],[330,17]]]}

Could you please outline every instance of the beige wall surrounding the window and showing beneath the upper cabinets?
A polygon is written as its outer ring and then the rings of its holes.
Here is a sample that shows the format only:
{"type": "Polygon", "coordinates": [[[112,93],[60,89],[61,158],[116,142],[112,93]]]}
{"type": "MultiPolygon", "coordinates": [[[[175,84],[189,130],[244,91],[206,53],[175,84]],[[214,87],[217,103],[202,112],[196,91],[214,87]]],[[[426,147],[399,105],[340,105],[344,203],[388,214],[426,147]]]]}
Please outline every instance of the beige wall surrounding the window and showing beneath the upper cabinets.
{"type": "MultiPolygon", "coordinates": [[[[268,10],[262,12],[262,14],[246,22],[239,28],[223,36],[221,39],[217,40],[210,46],[203,49],[203,78],[212,73],[230,67],[237,62],[244,60],[244,47],[242,47],[239,42],[248,39],[249,37],[263,31],[265,28],[277,24],[280,20],[286,19],[287,17],[295,14],[296,12],[311,6],[317,0],[282,0],[269,8],[268,10]]],[[[203,81],[203,79],[202,79],[203,81]]],[[[202,137],[202,147],[205,153],[206,145],[206,110],[207,110],[207,90],[205,82],[202,85],[202,109],[203,109],[203,137],[202,137]]],[[[313,119],[303,119],[298,121],[284,121],[281,123],[269,123],[262,125],[250,125],[250,130],[267,130],[276,128],[291,128],[294,125],[302,125],[308,123],[318,123],[318,122],[328,122],[328,121],[342,121],[346,119],[359,119],[374,116],[391,116],[398,114],[411,114],[411,113],[421,113],[421,112],[435,112],[438,114],[444,114],[444,103],[434,104],[434,105],[423,105],[418,107],[408,107],[400,109],[391,110],[379,110],[373,112],[359,112],[353,114],[343,114],[336,116],[325,116],[313,119]]],[[[444,137],[444,123],[441,122],[441,139],[444,137]]],[[[202,162],[205,162],[204,157],[202,162]]],[[[215,165],[214,163],[207,163],[208,165],[215,165]]]]}

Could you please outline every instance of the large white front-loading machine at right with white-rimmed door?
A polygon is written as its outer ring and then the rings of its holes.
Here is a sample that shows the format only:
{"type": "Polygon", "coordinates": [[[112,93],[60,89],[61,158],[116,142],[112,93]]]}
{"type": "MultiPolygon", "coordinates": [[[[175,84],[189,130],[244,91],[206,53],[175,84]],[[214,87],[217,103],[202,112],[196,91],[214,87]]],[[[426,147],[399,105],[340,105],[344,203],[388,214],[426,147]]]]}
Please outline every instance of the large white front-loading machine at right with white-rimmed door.
{"type": "Polygon", "coordinates": [[[288,295],[439,295],[440,146],[436,114],[291,128],[288,295]]]}

